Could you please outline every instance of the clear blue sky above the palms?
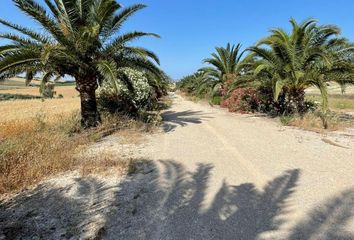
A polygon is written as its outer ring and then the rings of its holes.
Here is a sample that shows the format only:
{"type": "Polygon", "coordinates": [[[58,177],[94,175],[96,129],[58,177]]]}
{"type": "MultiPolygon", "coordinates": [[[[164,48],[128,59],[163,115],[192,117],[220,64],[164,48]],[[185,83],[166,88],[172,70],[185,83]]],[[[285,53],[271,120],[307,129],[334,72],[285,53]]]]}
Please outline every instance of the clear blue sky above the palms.
{"type": "MultiPolygon", "coordinates": [[[[0,1],[1,18],[37,27],[11,0],[0,1]]],[[[272,27],[289,29],[290,17],[298,21],[314,17],[321,24],[338,25],[343,35],[354,41],[353,0],[121,0],[120,3],[148,5],[123,30],[160,34],[161,39],[139,40],[135,44],[155,51],[162,68],[174,79],[200,68],[202,59],[215,46],[240,42],[246,48],[266,36],[272,27]]],[[[0,26],[0,32],[5,30],[0,26]]]]}

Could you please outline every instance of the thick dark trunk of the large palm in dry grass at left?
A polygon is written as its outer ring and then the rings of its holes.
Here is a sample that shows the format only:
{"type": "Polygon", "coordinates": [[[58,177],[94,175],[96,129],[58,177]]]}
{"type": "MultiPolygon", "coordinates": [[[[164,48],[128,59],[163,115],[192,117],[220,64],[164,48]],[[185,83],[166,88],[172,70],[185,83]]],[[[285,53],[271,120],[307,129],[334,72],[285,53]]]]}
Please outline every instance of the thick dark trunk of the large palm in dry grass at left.
{"type": "Polygon", "coordinates": [[[95,78],[76,79],[76,90],[80,93],[81,126],[83,128],[96,127],[101,122],[101,116],[97,110],[97,87],[95,78]]]}

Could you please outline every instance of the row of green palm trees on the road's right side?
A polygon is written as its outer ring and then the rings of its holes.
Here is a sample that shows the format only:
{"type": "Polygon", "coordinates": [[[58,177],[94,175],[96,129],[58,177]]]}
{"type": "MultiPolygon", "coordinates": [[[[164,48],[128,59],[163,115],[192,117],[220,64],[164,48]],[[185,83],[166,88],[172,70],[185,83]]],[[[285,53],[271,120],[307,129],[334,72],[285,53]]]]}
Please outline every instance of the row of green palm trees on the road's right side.
{"type": "Polygon", "coordinates": [[[340,35],[334,25],[318,25],[314,19],[301,23],[290,20],[290,33],[281,28],[270,30],[270,35],[255,46],[240,51],[240,44],[216,48],[216,53],[203,62],[211,67],[202,68],[194,78],[203,78],[203,85],[195,79],[182,79],[179,84],[193,86],[204,92],[226,95],[239,86],[266,88],[274,102],[286,101],[294,112],[304,105],[305,90],[317,87],[322,96],[322,110],[328,109],[329,82],[343,89],[354,84],[354,45],[340,35]],[[244,53],[248,54],[244,56],[244,53]],[[205,86],[210,86],[206,91],[205,86]],[[218,88],[218,91],[215,89],[218,88]],[[226,90],[226,91],[225,91],[226,90]]]}

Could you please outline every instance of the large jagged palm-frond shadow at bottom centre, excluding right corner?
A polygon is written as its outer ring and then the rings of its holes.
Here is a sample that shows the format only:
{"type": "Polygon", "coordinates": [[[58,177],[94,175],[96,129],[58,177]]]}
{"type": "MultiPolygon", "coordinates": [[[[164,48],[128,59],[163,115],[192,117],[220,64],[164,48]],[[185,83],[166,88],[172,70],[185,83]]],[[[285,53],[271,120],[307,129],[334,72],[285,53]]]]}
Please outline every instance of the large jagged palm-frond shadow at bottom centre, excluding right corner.
{"type": "Polygon", "coordinates": [[[135,202],[136,215],[123,220],[119,213],[107,221],[109,239],[118,232],[119,239],[256,239],[281,225],[280,216],[300,173],[287,171],[261,192],[251,183],[231,186],[225,181],[203,211],[212,165],[200,164],[188,172],[173,161],[160,164],[164,172],[144,181],[143,194],[135,202]]]}

